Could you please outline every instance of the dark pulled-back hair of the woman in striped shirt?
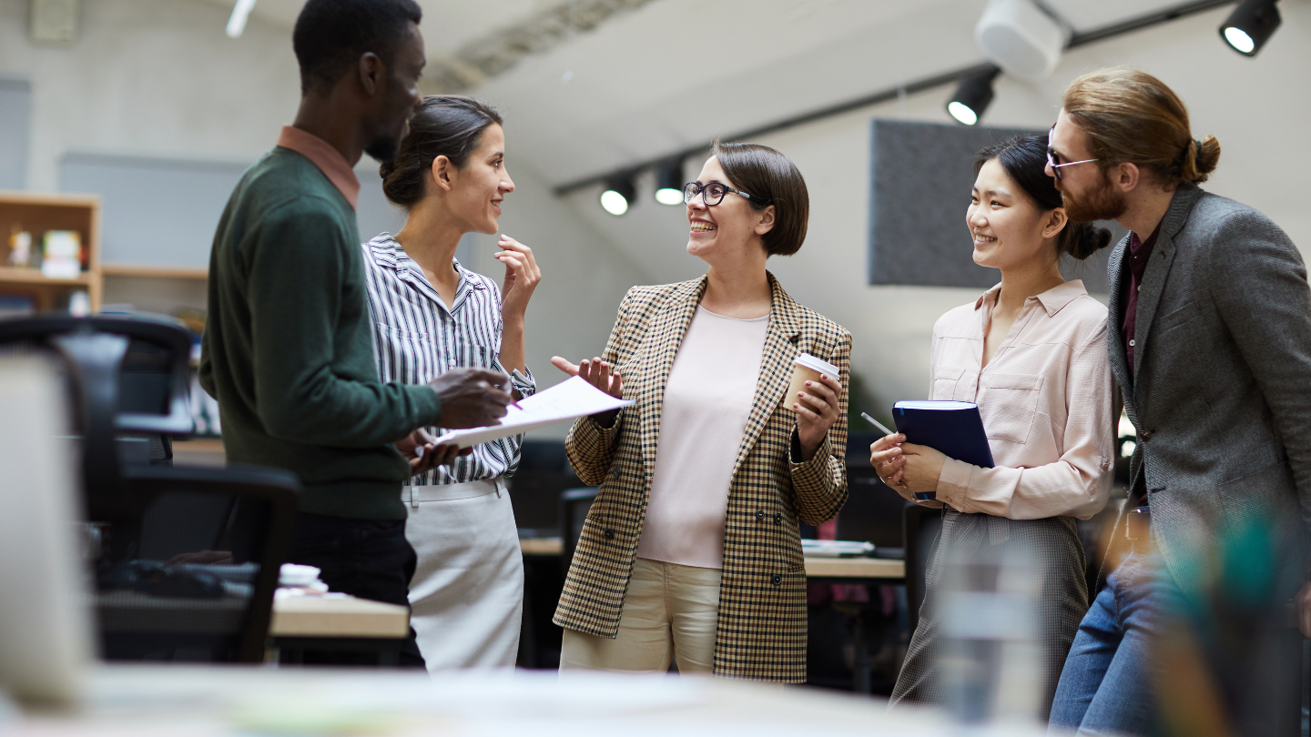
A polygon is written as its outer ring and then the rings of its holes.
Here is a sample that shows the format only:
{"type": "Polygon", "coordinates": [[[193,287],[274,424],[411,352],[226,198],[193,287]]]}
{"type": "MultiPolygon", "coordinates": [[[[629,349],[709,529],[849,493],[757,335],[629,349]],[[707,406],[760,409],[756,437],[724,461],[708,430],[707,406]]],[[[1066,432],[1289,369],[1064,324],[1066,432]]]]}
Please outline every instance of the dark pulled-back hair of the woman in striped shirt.
{"type": "Polygon", "coordinates": [[[482,131],[492,123],[502,125],[496,108],[459,94],[425,97],[410,130],[401,142],[396,159],[378,168],[383,177],[383,194],[406,210],[423,199],[423,182],[438,156],[446,156],[458,168],[469,163],[477,151],[482,131]]]}

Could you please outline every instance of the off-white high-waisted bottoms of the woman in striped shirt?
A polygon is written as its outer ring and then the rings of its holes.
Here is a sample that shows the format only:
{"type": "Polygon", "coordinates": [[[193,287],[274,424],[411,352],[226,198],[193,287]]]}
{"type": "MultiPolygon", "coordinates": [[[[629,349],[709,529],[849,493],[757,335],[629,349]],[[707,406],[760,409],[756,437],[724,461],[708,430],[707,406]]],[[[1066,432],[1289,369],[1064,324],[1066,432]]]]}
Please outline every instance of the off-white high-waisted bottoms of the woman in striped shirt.
{"type": "Polygon", "coordinates": [[[405,487],[405,538],[418,555],[410,626],[429,673],[513,667],[523,612],[523,553],[503,479],[405,487]]]}

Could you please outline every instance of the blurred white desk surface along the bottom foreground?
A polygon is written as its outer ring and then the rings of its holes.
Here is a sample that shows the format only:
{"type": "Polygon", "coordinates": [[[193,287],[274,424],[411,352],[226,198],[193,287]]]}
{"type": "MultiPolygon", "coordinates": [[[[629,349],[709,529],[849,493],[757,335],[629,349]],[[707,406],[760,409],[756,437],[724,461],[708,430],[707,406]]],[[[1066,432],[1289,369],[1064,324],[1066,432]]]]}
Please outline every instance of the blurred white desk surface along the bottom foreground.
{"type": "Polygon", "coordinates": [[[7,737],[958,734],[937,713],[888,712],[881,699],[663,674],[110,665],[87,694],[80,712],[8,721],[7,737]]]}

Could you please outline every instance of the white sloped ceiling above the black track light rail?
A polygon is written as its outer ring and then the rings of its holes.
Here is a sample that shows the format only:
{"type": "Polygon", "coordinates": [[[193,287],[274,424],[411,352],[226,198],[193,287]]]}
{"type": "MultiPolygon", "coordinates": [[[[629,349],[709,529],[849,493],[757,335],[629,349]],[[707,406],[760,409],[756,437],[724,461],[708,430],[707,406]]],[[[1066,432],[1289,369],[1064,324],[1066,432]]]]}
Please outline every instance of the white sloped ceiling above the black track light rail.
{"type": "MultiPolygon", "coordinates": [[[[231,7],[233,0],[206,0],[231,7]]],[[[418,0],[434,60],[562,0],[418,0]]],[[[1076,30],[1177,0],[1046,0],[1076,30]]],[[[257,0],[290,28],[303,0],[257,0]]],[[[982,59],[986,0],[656,0],[465,90],[551,184],[700,146],[982,59]]]]}

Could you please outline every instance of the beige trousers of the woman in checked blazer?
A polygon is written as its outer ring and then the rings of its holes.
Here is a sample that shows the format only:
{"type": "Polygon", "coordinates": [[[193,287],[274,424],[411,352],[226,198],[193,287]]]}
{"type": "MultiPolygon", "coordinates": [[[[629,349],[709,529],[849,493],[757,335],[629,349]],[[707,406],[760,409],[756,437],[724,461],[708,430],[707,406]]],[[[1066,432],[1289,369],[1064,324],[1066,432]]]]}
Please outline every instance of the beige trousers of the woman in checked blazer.
{"type": "Polygon", "coordinates": [[[721,573],[637,559],[619,636],[611,640],[565,629],[560,670],[663,673],[673,658],[679,673],[713,673],[721,573]]]}

